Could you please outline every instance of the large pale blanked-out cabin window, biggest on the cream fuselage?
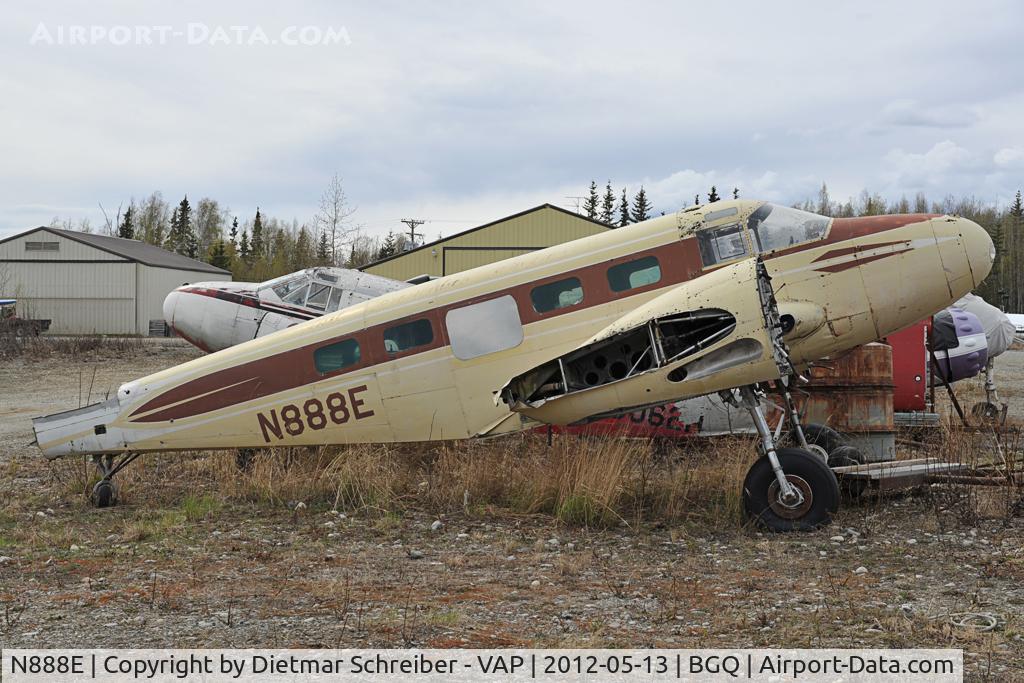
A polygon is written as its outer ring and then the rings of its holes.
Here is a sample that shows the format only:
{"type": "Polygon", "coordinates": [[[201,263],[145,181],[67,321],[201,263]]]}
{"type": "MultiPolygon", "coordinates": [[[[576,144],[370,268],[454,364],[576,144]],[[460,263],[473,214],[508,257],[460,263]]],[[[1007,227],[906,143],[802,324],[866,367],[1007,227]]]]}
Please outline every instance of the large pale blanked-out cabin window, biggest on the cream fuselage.
{"type": "Polygon", "coordinates": [[[519,306],[511,296],[450,310],[444,326],[452,352],[460,360],[505,351],[522,343],[519,306]]]}

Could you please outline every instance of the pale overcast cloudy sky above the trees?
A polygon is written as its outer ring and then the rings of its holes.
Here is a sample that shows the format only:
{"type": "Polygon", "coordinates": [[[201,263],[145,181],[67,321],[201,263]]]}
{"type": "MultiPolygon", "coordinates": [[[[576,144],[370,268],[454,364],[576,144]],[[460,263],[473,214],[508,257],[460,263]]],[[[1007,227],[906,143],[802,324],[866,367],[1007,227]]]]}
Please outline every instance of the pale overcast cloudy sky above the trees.
{"type": "Polygon", "coordinates": [[[591,178],[659,211],[1024,184],[1013,0],[212,4],[4,4],[0,237],[154,189],[303,221],[334,173],[431,239],[591,178]]]}

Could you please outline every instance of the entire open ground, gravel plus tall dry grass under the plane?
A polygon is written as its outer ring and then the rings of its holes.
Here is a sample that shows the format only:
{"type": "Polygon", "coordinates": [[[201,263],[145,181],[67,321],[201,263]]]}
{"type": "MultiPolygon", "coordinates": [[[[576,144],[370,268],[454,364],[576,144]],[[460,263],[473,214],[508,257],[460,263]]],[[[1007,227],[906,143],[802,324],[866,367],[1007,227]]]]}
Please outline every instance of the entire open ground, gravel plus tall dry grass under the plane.
{"type": "MultiPolygon", "coordinates": [[[[146,456],[96,510],[83,461],[30,444],[30,417],[196,353],[0,360],[0,644],[929,646],[965,648],[977,680],[1024,671],[1009,487],[868,498],[770,536],[739,514],[743,439],[514,436],[266,452],[246,471],[233,453],[146,456]]],[[[1016,394],[1024,353],[1008,356],[1016,394]]],[[[927,438],[928,455],[993,455],[927,438]]]]}

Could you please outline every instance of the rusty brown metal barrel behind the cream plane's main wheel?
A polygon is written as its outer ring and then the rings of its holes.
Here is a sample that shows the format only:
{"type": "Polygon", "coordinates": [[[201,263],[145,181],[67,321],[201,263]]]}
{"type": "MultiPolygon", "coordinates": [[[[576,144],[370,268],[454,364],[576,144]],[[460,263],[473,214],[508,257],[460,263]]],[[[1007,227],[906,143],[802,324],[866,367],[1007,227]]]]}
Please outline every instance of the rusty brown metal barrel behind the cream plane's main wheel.
{"type": "Polygon", "coordinates": [[[894,460],[893,355],[888,344],[865,344],[811,368],[798,402],[804,422],[846,434],[869,462],[894,460]]]}

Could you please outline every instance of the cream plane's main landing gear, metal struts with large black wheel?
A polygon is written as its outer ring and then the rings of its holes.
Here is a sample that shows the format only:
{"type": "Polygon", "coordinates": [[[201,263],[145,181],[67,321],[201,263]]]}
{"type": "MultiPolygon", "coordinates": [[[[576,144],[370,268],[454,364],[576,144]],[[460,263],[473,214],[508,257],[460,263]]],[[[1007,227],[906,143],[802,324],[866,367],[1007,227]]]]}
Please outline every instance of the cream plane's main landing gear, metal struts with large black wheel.
{"type": "Polygon", "coordinates": [[[760,395],[755,386],[733,393],[733,400],[750,412],[763,453],[743,480],[743,512],[770,531],[806,531],[828,524],[839,510],[840,494],[836,475],[825,462],[827,456],[808,450],[788,391],[783,392],[786,414],[794,438],[803,447],[776,450],[776,436],[761,411],[760,395]]]}

